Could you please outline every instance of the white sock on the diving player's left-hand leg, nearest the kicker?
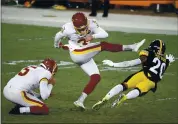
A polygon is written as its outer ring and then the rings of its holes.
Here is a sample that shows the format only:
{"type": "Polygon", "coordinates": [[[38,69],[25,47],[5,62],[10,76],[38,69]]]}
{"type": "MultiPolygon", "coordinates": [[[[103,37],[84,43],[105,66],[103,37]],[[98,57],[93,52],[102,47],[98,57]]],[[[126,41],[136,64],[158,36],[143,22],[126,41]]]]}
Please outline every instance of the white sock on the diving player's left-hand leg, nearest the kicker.
{"type": "Polygon", "coordinates": [[[123,91],[123,86],[121,84],[116,85],[115,87],[113,87],[105,96],[106,99],[110,99],[113,96],[119,94],[120,92],[123,91]]]}

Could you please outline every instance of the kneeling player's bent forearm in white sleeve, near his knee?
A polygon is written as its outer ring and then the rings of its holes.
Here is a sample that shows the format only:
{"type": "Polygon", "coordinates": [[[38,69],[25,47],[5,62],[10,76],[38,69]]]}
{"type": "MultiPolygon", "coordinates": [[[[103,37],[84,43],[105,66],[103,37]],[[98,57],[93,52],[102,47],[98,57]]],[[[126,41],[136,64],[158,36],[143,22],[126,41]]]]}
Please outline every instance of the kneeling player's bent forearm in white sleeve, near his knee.
{"type": "Polygon", "coordinates": [[[43,100],[48,99],[53,88],[53,83],[51,83],[47,78],[42,78],[40,80],[40,95],[43,100]]]}

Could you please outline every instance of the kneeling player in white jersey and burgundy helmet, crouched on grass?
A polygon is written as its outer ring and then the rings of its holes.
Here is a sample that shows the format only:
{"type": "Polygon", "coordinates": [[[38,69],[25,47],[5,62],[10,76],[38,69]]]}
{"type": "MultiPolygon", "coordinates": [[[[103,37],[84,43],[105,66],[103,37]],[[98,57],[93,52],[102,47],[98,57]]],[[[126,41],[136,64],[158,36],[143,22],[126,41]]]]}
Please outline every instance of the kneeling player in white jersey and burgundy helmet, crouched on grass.
{"type": "Polygon", "coordinates": [[[28,66],[9,80],[4,87],[4,97],[15,103],[9,114],[48,114],[49,108],[40,100],[46,100],[55,84],[57,64],[45,59],[39,66],[28,66]],[[40,94],[34,92],[39,88],[40,94]]]}

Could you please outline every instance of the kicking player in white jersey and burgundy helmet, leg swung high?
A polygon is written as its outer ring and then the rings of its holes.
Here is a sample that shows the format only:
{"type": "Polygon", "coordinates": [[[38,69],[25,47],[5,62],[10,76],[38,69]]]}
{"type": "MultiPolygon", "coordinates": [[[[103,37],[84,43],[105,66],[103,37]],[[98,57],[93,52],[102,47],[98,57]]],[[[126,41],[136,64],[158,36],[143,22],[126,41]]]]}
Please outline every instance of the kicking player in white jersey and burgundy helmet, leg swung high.
{"type": "Polygon", "coordinates": [[[103,30],[95,20],[87,19],[81,12],[75,13],[72,16],[72,22],[64,24],[62,30],[55,35],[54,47],[69,49],[71,59],[90,77],[81,96],[74,102],[76,107],[85,109],[85,106],[83,105],[84,100],[94,90],[101,79],[98,67],[93,60],[95,55],[101,51],[137,52],[139,47],[145,42],[145,40],[142,40],[141,42],[131,45],[112,44],[105,41],[95,43],[90,42],[93,39],[106,37],[108,37],[108,33],[103,30]],[[64,37],[69,39],[68,45],[62,45],[61,39],[64,37]]]}

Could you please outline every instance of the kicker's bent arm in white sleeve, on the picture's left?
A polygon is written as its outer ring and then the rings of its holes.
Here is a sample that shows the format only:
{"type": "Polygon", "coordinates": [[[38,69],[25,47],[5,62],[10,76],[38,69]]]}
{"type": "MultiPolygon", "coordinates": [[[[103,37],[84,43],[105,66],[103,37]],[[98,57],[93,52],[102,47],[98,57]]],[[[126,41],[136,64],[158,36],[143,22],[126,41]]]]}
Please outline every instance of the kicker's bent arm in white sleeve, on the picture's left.
{"type": "Polygon", "coordinates": [[[55,37],[54,37],[54,47],[55,48],[60,48],[60,43],[61,43],[61,39],[63,37],[66,37],[66,33],[65,33],[65,26],[62,27],[61,31],[57,32],[55,37]]]}

